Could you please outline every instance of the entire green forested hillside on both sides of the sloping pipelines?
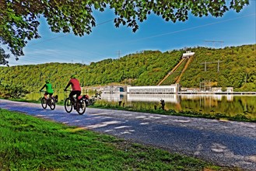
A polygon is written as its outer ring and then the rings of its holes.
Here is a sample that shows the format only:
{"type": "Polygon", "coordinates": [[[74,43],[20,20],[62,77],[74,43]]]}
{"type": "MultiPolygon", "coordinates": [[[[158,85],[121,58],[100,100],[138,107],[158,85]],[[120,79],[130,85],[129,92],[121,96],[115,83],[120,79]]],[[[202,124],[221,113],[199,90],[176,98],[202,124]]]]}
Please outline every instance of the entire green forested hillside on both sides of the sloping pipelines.
{"type": "MultiPolygon", "coordinates": [[[[256,44],[222,49],[194,47],[187,51],[195,51],[195,56],[181,78],[181,86],[198,87],[199,82],[207,79],[212,82],[212,86],[232,86],[237,91],[256,91],[256,44]],[[202,63],[218,60],[221,61],[219,72],[217,63],[207,64],[205,72],[202,63]]],[[[50,63],[0,67],[0,88],[15,86],[37,92],[44,81],[50,79],[54,89],[64,89],[72,74],[78,75],[82,86],[103,86],[112,82],[155,86],[177,65],[184,52],[142,51],[90,65],[50,63]]]]}

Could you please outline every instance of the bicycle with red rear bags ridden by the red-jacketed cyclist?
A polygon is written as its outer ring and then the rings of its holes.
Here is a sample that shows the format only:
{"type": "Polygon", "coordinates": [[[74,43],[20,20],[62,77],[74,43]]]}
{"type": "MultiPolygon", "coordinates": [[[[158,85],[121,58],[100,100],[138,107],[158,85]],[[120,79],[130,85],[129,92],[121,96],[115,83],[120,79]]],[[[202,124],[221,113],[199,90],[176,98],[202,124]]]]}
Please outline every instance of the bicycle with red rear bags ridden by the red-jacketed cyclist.
{"type": "MultiPolygon", "coordinates": [[[[67,90],[70,91],[70,90],[67,90]]],[[[68,96],[67,99],[65,99],[65,110],[67,113],[70,113],[74,107],[74,109],[77,111],[77,113],[79,114],[83,114],[86,112],[86,102],[88,102],[88,97],[86,95],[84,96],[79,96],[78,98],[74,98],[75,99],[75,103],[72,104],[72,100],[70,99],[70,97],[68,96]]]]}

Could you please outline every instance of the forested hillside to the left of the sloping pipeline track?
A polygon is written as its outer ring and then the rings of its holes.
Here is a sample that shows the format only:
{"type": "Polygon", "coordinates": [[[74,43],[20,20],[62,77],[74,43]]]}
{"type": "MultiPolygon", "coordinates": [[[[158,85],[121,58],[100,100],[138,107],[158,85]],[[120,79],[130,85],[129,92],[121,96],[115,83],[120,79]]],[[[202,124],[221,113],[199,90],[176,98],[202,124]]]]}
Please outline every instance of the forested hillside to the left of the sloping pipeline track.
{"type": "Polygon", "coordinates": [[[2,86],[23,86],[38,91],[46,79],[55,89],[64,89],[72,74],[81,86],[118,82],[130,85],[156,85],[179,62],[183,51],[143,51],[119,59],[106,59],[90,65],[50,63],[0,68],[2,86]]]}

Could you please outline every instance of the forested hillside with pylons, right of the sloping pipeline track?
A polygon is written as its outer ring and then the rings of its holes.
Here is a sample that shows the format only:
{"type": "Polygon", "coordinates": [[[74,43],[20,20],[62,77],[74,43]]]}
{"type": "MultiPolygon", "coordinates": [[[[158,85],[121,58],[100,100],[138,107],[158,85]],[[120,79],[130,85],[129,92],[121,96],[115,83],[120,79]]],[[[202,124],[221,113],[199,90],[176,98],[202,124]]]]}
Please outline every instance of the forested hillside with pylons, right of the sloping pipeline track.
{"type": "Polygon", "coordinates": [[[256,92],[256,44],[218,50],[198,47],[192,51],[195,56],[181,78],[182,86],[198,87],[206,80],[211,86],[256,92]]]}

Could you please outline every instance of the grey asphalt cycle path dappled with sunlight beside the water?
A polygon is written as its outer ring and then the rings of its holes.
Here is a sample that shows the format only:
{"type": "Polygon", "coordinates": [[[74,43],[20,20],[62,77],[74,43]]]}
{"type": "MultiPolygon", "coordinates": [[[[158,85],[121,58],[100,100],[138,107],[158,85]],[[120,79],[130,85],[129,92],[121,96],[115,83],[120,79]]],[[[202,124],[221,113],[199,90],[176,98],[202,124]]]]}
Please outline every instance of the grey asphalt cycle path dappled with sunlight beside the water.
{"type": "Polygon", "coordinates": [[[220,166],[256,170],[256,123],[95,108],[86,108],[86,113],[79,115],[74,110],[66,113],[64,106],[44,110],[37,103],[5,99],[0,99],[0,108],[153,145],[220,166]]]}

